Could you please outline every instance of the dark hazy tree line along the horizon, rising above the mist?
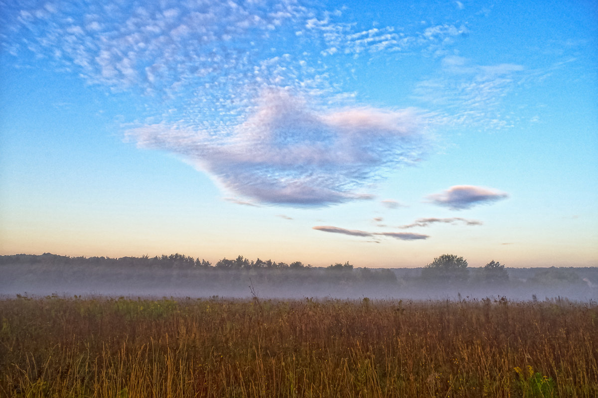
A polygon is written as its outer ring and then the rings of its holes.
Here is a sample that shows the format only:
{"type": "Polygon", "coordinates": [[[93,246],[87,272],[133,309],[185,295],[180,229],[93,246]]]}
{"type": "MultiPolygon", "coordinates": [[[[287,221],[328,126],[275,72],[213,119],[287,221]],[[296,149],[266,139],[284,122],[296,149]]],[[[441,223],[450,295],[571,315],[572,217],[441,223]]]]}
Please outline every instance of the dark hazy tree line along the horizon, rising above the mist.
{"type": "MultiPolygon", "coordinates": [[[[598,289],[598,269],[595,267],[585,269],[560,267],[507,269],[504,264],[492,260],[483,267],[470,268],[467,260],[454,254],[440,255],[419,268],[357,268],[349,261],[330,264],[327,267],[316,267],[301,261],[285,263],[261,260],[260,258],[249,260],[242,255],[234,259],[222,258],[212,264],[203,258],[194,258],[178,253],[155,257],[142,255],[141,257],[120,258],[69,257],[50,253],[0,255],[0,267],[2,266],[4,269],[0,272],[4,273],[6,283],[9,283],[10,280],[14,282],[25,276],[29,278],[28,280],[37,280],[36,275],[46,275],[44,277],[60,280],[65,279],[66,276],[71,279],[77,276],[96,280],[109,279],[109,275],[124,277],[128,274],[141,279],[150,275],[161,275],[164,280],[186,277],[190,278],[189,280],[199,278],[205,280],[206,283],[218,281],[230,283],[231,280],[238,279],[238,273],[242,273],[243,277],[252,277],[254,281],[262,278],[268,280],[268,283],[289,280],[296,282],[297,278],[302,278],[301,280],[305,283],[326,282],[336,285],[358,281],[375,282],[382,285],[398,283],[403,287],[410,286],[412,282],[430,286],[523,286],[524,284],[529,285],[529,283],[536,285],[569,283],[584,288],[598,289]]],[[[1,286],[0,283],[0,288],[1,286]]]]}

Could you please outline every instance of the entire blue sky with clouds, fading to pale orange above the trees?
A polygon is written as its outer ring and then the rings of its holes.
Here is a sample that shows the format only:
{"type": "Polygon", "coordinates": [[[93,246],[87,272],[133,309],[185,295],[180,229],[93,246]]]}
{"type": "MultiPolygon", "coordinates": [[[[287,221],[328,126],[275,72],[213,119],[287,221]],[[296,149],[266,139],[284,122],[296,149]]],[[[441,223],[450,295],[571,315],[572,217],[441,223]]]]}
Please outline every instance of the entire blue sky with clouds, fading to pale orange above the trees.
{"type": "Polygon", "coordinates": [[[0,0],[0,254],[598,266],[597,10],[0,0]]]}

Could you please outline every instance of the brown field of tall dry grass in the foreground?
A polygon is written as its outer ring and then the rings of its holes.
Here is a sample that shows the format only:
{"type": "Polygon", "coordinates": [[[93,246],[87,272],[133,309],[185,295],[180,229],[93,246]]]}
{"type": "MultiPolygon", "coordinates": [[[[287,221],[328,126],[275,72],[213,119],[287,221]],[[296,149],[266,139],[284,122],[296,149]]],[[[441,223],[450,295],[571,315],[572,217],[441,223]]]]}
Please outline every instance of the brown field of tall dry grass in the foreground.
{"type": "Polygon", "coordinates": [[[5,397],[596,397],[568,301],[0,301],[5,397]]]}

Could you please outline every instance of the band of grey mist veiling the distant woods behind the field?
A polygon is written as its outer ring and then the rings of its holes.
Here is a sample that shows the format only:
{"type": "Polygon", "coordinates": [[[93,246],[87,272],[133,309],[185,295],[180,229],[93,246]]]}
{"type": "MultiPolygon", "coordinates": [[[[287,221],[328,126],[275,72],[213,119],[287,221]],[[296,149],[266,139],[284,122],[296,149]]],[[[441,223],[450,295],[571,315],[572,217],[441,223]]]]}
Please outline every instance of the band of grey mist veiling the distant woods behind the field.
{"type": "Polygon", "coordinates": [[[10,255],[0,257],[0,295],[350,300],[598,300],[598,268],[483,267],[426,274],[426,268],[367,269],[351,264],[223,259],[214,266],[182,255],[120,259],[10,255]],[[252,292],[253,289],[253,292],[252,292]]]}

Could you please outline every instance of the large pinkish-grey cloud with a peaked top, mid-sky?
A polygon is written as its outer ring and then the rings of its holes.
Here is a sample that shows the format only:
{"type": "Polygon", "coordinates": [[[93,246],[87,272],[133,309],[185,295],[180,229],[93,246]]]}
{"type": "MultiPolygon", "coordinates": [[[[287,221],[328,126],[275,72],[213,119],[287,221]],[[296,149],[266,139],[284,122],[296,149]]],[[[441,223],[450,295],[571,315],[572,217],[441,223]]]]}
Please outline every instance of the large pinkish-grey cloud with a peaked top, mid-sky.
{"type": "Polygon", "coordinates": [[[139,146],[184,156],[224,189],[264,203],[327,205],[370,199],[362,188],[417,162],[425,137],[413,110],[315,110],[270,90],[228,137],[153,125],[130,129],[139,146]]]}

